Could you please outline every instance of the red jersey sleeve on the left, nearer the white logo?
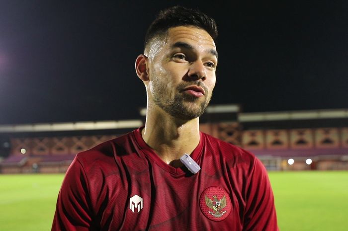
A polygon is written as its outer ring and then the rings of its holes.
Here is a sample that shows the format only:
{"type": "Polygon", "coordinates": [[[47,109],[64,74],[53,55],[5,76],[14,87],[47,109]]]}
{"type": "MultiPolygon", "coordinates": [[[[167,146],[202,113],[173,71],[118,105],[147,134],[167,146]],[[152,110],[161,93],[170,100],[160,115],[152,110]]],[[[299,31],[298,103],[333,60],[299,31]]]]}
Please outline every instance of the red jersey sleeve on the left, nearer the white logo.
{"type": "Polygon", "coordinates": [[[51,231],[92,230],[90,211],[87,177],[78,157],[75,157],[58,194],[51,231]]]}

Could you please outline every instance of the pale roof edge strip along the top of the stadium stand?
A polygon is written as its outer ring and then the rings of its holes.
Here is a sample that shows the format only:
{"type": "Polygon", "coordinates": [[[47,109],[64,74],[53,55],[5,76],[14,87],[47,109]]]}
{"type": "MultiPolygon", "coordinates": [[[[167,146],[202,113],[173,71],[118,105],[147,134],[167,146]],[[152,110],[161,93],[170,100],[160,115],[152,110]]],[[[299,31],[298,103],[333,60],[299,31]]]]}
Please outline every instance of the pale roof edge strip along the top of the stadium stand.
{"type": "MultiPolygon", "coordinates": [[[[280,112],[253,112],[239,113],[237,104],[211,105],[206,113],[236,113],[238,121],[264,122],[286,120],[317,120],[348,118],[348,109],[304,110],[304,111],[280,111],[280,112]]],[[[146,109],[140,110],[140,115],[146,115],[146,109]]],[[[17,132],[56,132],[56,131],[84,131],[137,128],[143,126],[143,120],[114,120],[114,121],[81,121],[68,123],[37,123],[37,124],[12,124],[0,125],[0,133],[17,132]]]]}

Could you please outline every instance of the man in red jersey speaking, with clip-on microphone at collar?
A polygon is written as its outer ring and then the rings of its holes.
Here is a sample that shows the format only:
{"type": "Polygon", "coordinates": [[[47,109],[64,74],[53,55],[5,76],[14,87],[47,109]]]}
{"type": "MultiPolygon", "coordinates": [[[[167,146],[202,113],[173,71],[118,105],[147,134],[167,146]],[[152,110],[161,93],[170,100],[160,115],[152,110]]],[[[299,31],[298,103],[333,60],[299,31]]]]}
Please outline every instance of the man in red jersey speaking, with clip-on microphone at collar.
{"type": "Polygon", "coordinates": [[[216,36],[214,20],[199,11],[159,14],[135,63],[147,92],[145,127],[77,154],[52,231],[278,230],[261,162],[199,132],[215,85],[216,36]]]}

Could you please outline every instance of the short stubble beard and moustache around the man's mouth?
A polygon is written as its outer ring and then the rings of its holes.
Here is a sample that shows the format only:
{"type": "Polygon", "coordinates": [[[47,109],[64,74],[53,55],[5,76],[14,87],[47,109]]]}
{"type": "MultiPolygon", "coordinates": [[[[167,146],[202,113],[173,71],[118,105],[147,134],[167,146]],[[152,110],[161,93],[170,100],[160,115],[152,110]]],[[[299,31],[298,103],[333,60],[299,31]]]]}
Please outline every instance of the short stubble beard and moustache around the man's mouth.
{"type": "Polygon", "coordinates": [[[207,108],[211,94],[201,82],[191,84],[181,83],[177,86],[174,98],[168,98],[167,85],[156,82],[153,86],[154,103],[165,112],[177,119],[192,120],[201,116],[207,108]],[[188,85],[198,85],[205,90],[204,100],[190,94],[183,93],[188,85]]]}

